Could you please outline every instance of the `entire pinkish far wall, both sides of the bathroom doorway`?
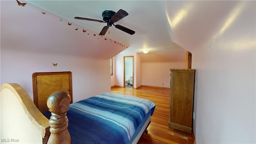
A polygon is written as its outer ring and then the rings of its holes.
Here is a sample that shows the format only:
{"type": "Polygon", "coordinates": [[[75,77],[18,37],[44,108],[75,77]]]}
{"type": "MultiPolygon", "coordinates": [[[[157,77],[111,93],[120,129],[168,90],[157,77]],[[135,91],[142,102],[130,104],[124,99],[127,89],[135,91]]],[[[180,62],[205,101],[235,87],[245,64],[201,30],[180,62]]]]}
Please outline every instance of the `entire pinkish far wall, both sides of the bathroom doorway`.
{"type": "Polygon", "coordinates": [[[134,88],[142,85],[170,87],[170,68],[184,68],[185,65],[185,51],[118,54],[114,61],[115,78],[111,79],[112,86],[124,86],[124,56],[134,56],[134,88]]]}

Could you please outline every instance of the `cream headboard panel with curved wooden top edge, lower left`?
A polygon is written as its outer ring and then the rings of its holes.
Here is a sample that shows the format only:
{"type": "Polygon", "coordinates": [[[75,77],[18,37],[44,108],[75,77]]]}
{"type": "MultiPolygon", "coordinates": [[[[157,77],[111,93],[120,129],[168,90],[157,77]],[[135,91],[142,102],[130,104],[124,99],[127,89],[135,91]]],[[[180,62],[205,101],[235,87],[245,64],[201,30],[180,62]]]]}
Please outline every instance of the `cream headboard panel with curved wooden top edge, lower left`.
{"type": "Polygon", "coordinates": [[[50,134],[49,120],[38,110],[20,85],[3,84],[0,103],[2,142],[46,144],[50,134]]]}

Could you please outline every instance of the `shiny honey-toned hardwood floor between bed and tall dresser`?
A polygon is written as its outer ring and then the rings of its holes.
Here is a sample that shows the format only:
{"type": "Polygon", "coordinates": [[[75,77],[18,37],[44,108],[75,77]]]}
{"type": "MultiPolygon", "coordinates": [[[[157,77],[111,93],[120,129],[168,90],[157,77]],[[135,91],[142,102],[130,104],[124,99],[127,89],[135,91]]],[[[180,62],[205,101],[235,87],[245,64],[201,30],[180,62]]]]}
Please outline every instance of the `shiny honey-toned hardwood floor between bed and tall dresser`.
{"type": "Polygon", "coordinates": [[[168,127],[170,90],[142,86],[138,89],[113,87],[111,92],[137,96],[151,100],[156,109],[148,126],[148,134],[144,134],[138,144],[194,144],[192,134],[168,127]]]}

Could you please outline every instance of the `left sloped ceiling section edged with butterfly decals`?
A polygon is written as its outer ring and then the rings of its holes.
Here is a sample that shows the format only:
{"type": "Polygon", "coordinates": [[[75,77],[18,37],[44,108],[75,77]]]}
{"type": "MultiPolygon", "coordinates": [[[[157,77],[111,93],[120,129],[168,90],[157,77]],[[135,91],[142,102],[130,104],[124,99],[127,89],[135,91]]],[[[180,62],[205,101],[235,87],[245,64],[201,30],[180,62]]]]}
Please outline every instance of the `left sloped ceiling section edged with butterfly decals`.
{"type": "Polygon", "coordinates": [[[8,49],[106,59],[128,47],[32,4],[19,6],[16,0],[0,1],[0,4],[1,51],[8,49]]]}

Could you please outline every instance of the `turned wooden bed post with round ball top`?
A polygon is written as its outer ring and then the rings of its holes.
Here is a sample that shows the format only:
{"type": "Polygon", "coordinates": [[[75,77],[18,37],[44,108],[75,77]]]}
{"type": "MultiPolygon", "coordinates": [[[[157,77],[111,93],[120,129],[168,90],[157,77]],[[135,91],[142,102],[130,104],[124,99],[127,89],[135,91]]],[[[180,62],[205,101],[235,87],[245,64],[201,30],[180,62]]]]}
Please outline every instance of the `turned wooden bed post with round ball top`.
{"type": "Polygon", "coordinates": [[[50,137],[47,144],[70,144],[68,132],[68,118],[66,112],[69,109],[70,95],[67,92],[59,91],[51,94],[47,100],[49,111],[52,116],[50,123],[50,137]]]}

